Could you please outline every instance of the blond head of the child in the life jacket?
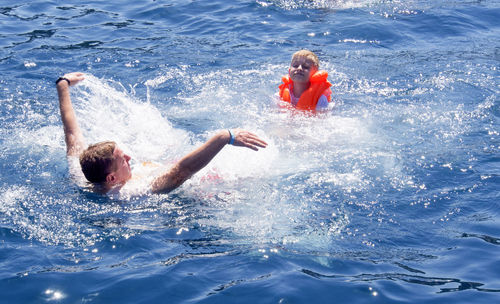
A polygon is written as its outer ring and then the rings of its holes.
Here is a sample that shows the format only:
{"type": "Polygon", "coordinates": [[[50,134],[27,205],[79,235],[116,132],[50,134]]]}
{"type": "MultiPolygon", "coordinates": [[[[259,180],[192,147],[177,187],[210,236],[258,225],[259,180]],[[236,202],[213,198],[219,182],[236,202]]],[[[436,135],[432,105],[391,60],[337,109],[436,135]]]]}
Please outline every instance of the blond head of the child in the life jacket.
{"type": "Polygon", "coordinates": [[[319,59],[308,50],[300,50],[292,55],[288,74],[294,82],[309,82],[309,77],[319,69],[319,59]]]}

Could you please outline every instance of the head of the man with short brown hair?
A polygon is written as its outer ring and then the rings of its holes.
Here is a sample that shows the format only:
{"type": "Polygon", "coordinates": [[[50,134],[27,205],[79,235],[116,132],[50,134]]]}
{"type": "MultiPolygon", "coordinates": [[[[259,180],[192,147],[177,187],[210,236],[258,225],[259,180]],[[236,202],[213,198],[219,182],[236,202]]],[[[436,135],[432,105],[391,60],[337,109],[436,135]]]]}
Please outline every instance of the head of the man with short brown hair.
{"type": "Polygon", "coordinates": [[[131,177],[130,156],[116,145],[105,141],[90,145],[80,155],[83,174],[92,183],[114,185],[125,183],[131,177]]]}

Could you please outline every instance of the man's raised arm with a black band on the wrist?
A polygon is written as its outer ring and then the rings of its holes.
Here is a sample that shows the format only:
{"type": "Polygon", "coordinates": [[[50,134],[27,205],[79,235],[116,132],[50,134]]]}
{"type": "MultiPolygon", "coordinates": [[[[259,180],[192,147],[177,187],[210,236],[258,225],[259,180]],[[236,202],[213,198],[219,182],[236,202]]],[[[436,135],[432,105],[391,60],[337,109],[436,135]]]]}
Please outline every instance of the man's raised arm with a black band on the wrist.
{"type": "Polygon", "coordinates": [[[65,74],[62,80],[57,83],[57,94],[59,96],[59,110],[64,126],[64,140],[66,141],[66,154],[68,156],[78,156],[85,148],[82,131],[78,126],[75,111],[71,104],[69,87],[82,81],[85,77],[83,73],[65,74]]]}

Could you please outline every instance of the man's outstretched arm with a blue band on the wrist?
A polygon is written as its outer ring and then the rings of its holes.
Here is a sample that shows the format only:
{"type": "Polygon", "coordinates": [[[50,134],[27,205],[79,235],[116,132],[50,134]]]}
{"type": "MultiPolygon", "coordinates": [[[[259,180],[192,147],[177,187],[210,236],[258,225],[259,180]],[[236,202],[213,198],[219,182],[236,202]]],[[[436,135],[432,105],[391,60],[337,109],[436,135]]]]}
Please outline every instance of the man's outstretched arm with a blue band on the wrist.
{"type": "MultiPolygon", "coordinates": [[[[247,147],[255,151],[259,147],[267,146],[265,141],[251,132],[235,129],[231,133],[234,135],[232,144],[235,146],[247,147]]],[[[201,147],[184,156],[167,173],[157,177],[152,183],[153,192],[169,192],[182,185],[193,174],[205,167],[226,144],[230,143],[230,140],[231,134],[228,130],[219,131],[201,147]]]]}

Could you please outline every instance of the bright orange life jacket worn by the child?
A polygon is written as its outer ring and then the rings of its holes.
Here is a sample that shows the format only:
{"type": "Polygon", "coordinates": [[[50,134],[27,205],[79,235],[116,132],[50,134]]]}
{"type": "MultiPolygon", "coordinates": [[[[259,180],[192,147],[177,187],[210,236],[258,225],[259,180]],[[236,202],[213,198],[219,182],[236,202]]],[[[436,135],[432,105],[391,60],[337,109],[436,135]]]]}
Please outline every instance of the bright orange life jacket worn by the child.
{"type": "MultiPolygon", "coordinates": [[[[325,95],[328,102],[331,101],[331,91],[330,87],[332,84],[327,80],[327,71],[317,71],[312,76],[309,77],[310,85],[307,90],[305,90],[302,95],[300,95],[299,101],[295,106],[299,110],[315,110],[316,104],[318,103],[321,95],[325,95]],[[325,92],[328,90],[327,92],[325,92]]],[[[290,102],[290,84],[293,87],[293,80],[290,76],[286,75],[281,78],[283,83],[279,86],[280,88],[280,98],[283,101],[290,102]]]]}

